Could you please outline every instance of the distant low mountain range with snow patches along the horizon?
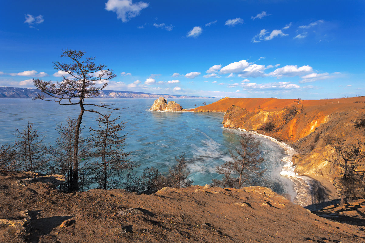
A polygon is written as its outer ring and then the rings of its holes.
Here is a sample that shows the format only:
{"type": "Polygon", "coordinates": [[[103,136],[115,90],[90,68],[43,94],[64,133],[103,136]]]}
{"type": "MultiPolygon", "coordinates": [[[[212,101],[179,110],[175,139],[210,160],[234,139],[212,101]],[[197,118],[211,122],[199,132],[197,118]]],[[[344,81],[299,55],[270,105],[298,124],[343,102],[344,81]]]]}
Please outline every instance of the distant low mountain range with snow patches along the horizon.
{"type": "MultiPolygon", "coordinates": [[[[32,88],[16,88],[16,87],[1,87],[0,98],[35,98],[39,93],[38,89],[32,88]]],[[[117,90],[101,90],[100,95],[95,98],[173,98],[173,99],[212,99],[213,97],[200,97],[189,95],[172,95],[172,94],[150,94],[133,91],[117,91],[117,90]]]]}

